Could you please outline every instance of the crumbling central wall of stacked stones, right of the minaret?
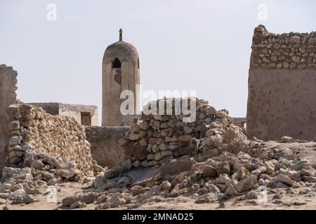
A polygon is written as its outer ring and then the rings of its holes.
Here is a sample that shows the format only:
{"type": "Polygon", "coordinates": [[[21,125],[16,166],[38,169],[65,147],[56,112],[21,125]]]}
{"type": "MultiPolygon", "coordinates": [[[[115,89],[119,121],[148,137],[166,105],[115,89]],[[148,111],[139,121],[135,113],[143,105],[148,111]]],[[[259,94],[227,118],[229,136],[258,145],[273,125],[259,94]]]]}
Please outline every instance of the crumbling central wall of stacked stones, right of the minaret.
{"type": "MultiPolygon", "coordinates": [[[[165,99],[159,99],[159,102],[165,99]]],[[[194,100],[194,99],[191,99],[194,100]]],[[[216,111],[209,102],[196,101],[196,119],[192,123],[183,122],[185,116],[144,115],[125,135],[126,160],[133,167],[154,167],[173,159],[203,155],[216,155],[219,148],[232,144],[245,136],[239,127],[232,124],[228,111],[216,111]]],[[[158,108],[158,106],[157,106],[158,108]]]]}

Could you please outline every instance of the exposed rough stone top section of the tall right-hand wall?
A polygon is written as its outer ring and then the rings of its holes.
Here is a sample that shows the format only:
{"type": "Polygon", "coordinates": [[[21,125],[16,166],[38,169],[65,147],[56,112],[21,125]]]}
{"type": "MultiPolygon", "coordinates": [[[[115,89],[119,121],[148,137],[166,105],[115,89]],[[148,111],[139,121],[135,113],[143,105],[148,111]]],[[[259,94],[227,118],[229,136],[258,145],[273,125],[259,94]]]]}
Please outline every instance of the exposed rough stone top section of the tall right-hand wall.
{"type": "Polygon", "coordinates": [[[251,48],[251,69],[316,69],[316,31],[273,34],[259,25],[251,48]]]}

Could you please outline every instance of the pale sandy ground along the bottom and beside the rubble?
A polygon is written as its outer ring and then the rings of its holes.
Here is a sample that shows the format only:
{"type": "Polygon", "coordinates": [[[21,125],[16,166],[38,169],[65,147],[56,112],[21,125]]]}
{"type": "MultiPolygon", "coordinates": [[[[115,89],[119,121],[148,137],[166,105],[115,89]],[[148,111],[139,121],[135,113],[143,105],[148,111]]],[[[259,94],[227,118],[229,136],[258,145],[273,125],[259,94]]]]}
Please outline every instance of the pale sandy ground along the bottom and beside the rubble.
{"type": "MultiPolygon", "coordinates": [[[[289,148],[293,153],[310,161],[312,167],[316,168],[316,143],[278,143],[258,142],[261,146],[261,152],[271,151],[273,148],[289,148]]],[[[32,204],[1,204],[0,209],[10,210],[53,210],[53,209],[69,209],[62,207],[62,199],[72,196],[75,193],[82,192],[81,183],[62,183],[57,187],[57,202],[47,202],[47,195],[39,195],[38,202],[32,204]]],[[[275,188],[269,189],[267,200],[259,202],[258,200],[239,200],[239,197],[232,197],[225,201],[197,204],[192,197],[167,197],[154,196],[145,200],[142,204],[126,204],[116,209],[316,209],[316,189],[315,183],[304,188],[275,188]]],[[[96,203],[88,204],[83,209],[95,209],[96,203]]]]}

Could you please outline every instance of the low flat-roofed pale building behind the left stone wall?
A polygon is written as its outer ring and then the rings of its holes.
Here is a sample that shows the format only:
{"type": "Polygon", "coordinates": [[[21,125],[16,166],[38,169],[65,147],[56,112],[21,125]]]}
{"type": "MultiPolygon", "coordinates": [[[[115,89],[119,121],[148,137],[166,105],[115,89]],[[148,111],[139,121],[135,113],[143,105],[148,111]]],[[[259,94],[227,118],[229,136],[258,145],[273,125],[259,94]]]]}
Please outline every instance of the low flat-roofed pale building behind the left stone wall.
{"type": "Polygon", "coordinates": [[[81,125],[98,126],[98,106],[60,103],[30,104],[41,107],[51,115],[62,115],[74,118],[81,125]]]}

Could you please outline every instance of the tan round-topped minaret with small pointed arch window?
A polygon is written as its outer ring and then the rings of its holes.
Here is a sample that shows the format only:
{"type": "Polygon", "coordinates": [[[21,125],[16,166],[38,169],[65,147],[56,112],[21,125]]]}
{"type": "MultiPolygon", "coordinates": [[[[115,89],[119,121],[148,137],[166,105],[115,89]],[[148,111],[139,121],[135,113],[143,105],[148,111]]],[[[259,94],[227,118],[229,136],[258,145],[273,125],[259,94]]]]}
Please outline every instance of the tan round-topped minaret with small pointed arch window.
{"type": "Polygon", "coordinates": [[[102,64],[102,125],[121,126],[120,112],[121,92],[131,90],[134,94],[134,111],[139,110],[140,69],[136,48],[123,41],[122,30],[119,30],[119,41],[109,45],[105,50],[102,64]]]}

